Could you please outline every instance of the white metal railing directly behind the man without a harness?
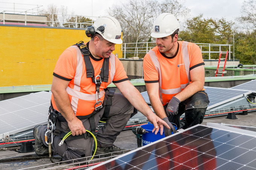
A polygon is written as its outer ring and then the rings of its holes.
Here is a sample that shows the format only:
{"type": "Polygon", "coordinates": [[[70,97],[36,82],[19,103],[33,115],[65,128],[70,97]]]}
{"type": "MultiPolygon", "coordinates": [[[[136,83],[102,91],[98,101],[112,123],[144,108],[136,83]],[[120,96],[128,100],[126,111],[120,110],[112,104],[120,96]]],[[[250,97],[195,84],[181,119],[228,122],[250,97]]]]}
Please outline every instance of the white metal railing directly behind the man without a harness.
{"type": "MultiPolygon", "coordinates": [[[[229,50],[229,60],[230,60],[230,54],[233,53],[231,50],[231,44],[203,44],[203,43],[195,43],[197,44],[202,54],[208,53],[209,54],[209,60],[211,59],[211,54],[213,53],[219,53],[221,51],[227,51],[229,50]]],[[[123,43],[122,50],[123,50],[123,56],[124,58],[130,58],[130,57],[139,57],[142,58],[145,56],[146,53],[148,53],[149,50],[154,48],[156,46],[155,42],[138,42],[137,47],[136,43],[123,43]]],[[[218,57],[218,56],[217,56],[218,57]]]]}

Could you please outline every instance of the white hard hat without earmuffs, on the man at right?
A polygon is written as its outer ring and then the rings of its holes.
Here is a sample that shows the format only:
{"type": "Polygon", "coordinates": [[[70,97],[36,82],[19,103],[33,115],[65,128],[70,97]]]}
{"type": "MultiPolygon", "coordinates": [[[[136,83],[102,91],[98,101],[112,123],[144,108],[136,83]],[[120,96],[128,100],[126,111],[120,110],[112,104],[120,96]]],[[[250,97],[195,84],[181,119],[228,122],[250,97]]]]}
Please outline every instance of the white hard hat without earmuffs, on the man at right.
{"type": "Polygon", "coordinates": [[[174,15],[170,13],[163,13],[155,19],[151,36],[153,38],[163,38],[171,35],[179,28],[180,24],[174,15]]]}

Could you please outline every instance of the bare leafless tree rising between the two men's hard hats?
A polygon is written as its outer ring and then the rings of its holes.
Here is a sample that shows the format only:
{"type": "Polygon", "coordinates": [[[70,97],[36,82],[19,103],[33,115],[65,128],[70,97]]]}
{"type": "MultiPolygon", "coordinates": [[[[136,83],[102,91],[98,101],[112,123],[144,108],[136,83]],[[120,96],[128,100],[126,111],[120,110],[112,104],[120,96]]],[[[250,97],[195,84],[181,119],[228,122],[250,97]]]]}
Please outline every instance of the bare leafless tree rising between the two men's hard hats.
{"type": "Polygon", "coordinates": [[[137,42],[145,42],[149,39],[149,19],[153,17],[153,6],[155,2],[152,0],[130,0],[109,10],[110,15],[121,24],[123,41],[136,42],[135,49],[137,49],[137,42]]]}

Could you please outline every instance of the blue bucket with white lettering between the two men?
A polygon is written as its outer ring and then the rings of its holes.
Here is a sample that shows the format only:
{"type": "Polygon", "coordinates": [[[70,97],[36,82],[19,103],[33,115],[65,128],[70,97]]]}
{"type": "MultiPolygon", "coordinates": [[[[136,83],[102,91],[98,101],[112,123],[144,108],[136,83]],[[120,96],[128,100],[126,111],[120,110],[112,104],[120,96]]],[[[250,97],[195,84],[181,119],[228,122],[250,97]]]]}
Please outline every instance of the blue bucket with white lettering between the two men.
{"type": "MultiPolygon", "coordinates": [[[[177,126],[174,125],[173,123],[172,123],[172,125],[177,130],[177,126]]],[[[142,125],[141,127],[143,129],[145,129],[146,131],[148,131],[148,133],[142,134],[142,145],[143,146],[165,137],[165,132],[164,131],[163,131],[163,135],[160,135],[160,130],[157,132],[156,135],[155,135],[155,132],[152,133],[152,130],[154,129],[154,125],[151,124],[151,123],[148,123],[146,125],[142,125]]],[[[172,134],[173,134],[173,132],[172,132],[172,134]]]]}

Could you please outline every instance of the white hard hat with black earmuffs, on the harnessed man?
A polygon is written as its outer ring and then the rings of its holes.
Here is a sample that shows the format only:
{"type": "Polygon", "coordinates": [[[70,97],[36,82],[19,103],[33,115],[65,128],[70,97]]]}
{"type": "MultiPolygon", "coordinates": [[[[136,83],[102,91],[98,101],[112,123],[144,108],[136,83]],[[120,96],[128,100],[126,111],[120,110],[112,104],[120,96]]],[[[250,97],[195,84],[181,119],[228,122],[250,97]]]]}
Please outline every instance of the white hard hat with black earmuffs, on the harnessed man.
{"type": "Polygon", "coordinates": [[[121,39],[121,26],[116,18],[114,17],[100,17],[94,24],[95,32],[99,33],[105,40],[112,42],[114,44],[122,44],[121,39]],[[101,26],[104,26],[103,31],[100,29],[101,26]]]}

